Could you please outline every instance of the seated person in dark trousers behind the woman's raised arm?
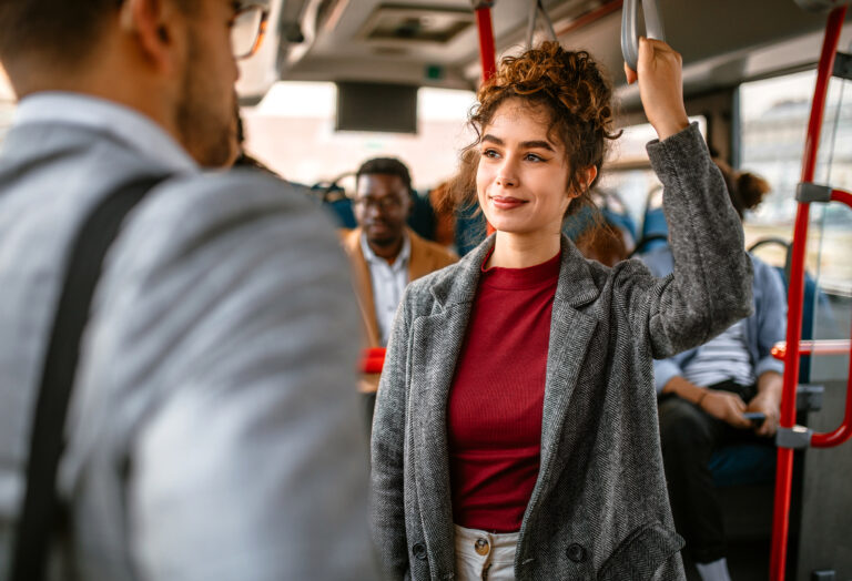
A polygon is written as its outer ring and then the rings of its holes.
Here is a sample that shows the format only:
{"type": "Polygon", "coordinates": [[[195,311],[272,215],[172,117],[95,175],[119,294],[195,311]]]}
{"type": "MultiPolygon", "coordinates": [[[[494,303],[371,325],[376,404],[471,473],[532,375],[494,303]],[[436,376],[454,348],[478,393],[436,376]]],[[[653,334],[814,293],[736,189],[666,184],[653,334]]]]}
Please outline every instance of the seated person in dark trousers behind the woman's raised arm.
{"type": "MultiPolygon", "coordinates": [[[[722,171],[733,207],[742,218],[769,192],[750,173],[722,171]]],[[[642,259],[657,276],[672,269],[668,246],[642,259]]],[[[772,446],[781,404],[783,364],[770,355],[787,333],[787,300],[781,276],[751,255],[753,314],[701,347],[653,363],[659,394],[660,435],[674,524],[703,580],[730,579],[724,530],[712,476],[711,453],[732,442],[772,446]],[[744,412],[761,412],[752,422],[744,412]]],[[[726,288],[719,288],[723,293],[726,288]]]]}

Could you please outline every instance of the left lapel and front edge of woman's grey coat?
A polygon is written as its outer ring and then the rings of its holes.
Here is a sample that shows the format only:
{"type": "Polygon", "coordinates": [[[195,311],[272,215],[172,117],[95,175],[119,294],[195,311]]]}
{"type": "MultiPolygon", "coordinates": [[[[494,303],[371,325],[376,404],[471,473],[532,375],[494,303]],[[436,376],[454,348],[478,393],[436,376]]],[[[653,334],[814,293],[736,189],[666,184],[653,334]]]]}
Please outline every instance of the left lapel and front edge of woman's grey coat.
{"type": "Polygon", "coordinates": [[[479,282],[479,267],[489,248],[490,244],[480,246],[462,261],[454,274],[438,278],[432,287],[433,314],[413,323],[408,417],[414,432],[415,483],[430,560],[445,567],[453,563],[454,537],[447,397],[479,282]]]}

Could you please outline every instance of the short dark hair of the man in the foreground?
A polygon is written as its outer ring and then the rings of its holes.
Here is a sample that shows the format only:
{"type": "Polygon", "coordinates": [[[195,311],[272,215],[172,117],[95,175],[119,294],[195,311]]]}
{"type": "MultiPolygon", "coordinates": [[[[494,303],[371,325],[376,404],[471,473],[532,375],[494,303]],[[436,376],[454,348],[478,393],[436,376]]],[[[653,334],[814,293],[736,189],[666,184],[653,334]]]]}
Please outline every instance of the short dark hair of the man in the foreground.
{"type": "MultiPolygon", "coordinates": [[[[200,0],[173,0],[190,10],[200,0]]],[[[90,57],[124,0],[0,0],[0,61],[38,57],[73,65],[90,57]]]]}

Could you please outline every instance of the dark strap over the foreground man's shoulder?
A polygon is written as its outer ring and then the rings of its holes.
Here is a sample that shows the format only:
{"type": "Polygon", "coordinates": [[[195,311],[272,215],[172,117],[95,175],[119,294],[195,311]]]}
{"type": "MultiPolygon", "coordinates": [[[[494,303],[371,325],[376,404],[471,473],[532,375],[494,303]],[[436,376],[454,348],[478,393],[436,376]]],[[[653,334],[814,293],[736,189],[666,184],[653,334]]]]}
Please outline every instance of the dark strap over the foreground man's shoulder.
{"type": "Polygon", "coordinates": [[[133,180],[90,212],[74,238],[53,318],[39,387],[27,463],[27,490],[11,554],[10,581],[40,581],[57,521],[57,472],[80,339],[89,320],[103,258],[128,213],[165,176],[133,180]]]}

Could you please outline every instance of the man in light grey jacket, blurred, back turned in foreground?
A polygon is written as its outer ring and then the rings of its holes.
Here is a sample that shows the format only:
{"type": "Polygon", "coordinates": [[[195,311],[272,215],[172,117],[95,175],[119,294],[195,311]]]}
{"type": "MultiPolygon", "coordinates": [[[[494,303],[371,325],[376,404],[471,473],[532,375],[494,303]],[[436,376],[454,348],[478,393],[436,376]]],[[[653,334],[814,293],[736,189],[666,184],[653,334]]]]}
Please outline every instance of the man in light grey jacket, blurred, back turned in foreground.
{"type": "Polygon", "coordinates": [[[280,181],[200,170],[233,157],[230,29],[260,21],[243,17],[230,0],[0,0],[21,100],[0,145],[0,580],[69,245],[143,176],[162,180],[106,255],[81,343],[50,569],[373,578],[345,257],[280,181]]]}

